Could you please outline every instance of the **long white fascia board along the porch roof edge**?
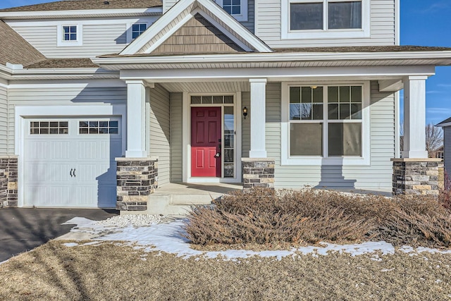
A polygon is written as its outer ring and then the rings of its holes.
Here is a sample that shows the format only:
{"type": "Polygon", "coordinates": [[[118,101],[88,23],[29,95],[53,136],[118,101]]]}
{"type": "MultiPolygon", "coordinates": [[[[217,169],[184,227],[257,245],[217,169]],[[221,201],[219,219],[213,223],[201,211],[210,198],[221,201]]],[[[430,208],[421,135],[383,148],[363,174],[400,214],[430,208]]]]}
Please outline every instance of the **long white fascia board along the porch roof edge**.
{"type": "Polygon", "coordinates": [[[137,63],[224,63],[224,62],[281,62],[281,61],[383,61],[402,59],[449,59],[451,51],[377,52],[377,53],[252,53],[252,54],[199,54],[189,56],[124,56],[96,58],[98,65],[137,63]]]}

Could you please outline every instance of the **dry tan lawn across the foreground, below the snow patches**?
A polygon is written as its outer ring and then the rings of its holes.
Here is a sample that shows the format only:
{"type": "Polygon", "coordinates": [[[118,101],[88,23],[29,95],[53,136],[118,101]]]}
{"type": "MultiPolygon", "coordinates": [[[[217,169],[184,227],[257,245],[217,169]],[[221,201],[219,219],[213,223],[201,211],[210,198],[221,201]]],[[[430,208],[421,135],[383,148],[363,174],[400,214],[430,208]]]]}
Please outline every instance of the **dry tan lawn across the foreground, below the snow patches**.
{"type": "Polygon", "coordinates": [[[451,254],[381,259],[226,262],[52,241],[0,266],[0,300],[449,300],[451,254]]]}

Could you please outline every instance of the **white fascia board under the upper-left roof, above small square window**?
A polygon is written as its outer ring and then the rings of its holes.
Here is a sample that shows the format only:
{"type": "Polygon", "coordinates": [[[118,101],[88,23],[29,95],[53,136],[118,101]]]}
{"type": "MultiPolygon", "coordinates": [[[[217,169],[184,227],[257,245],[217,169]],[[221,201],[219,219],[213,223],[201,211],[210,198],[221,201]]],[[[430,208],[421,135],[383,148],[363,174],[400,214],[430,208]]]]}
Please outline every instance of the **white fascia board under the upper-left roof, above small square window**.
{"type": "Polygon", "coordinates": [[[0,18],[8,19],[42,19],[42,18],[63,18],[75,16],[106,16],[106,15],[156,15],[163,13],[162,6],[152,8],[125,8],[125,9],[84,9],[74,11],[11,11],[0,12],[0,18]]]}

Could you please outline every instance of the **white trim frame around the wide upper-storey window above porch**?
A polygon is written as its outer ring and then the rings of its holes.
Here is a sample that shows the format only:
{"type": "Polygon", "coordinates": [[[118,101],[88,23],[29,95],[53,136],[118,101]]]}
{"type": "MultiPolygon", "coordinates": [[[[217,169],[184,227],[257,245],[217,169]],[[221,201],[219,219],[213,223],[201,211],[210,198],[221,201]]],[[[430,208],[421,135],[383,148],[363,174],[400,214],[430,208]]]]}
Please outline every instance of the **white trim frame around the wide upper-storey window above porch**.
{"type": "MultiPolygon", "coordinates": [[[[362,29],[336,29],[336,30],[290,30],[290,4],[292,3],[323,3],[327,6],[328,1],[348,2],[352,0],[283,0],[281,4],[281,39],[343,39],[363,38],[371,36],[371,6],[369,0],[362,1],[362,29]]],[[[355,1],[355,0],[354,0],[355,1]]],[[[323,13],[323,19],[327,20],[328,14],[323,13]]],[[[326,21],[324,21],[326,24],[326,21]]]]}

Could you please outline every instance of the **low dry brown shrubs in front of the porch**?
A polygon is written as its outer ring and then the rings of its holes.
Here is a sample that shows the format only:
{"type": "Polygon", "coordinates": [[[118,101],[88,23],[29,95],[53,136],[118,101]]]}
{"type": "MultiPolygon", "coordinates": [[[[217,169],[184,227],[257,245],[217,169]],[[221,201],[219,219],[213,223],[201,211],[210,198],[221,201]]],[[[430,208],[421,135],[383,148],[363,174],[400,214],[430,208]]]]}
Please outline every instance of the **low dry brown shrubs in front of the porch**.
{"type": "Polygon", "coordinates": [[[433,197],[254,190],[233,192],[213,203],[188,216],[185,229],[194,244],[385,240],[395,245],[451,245],[451,211],[433,197]]]}

